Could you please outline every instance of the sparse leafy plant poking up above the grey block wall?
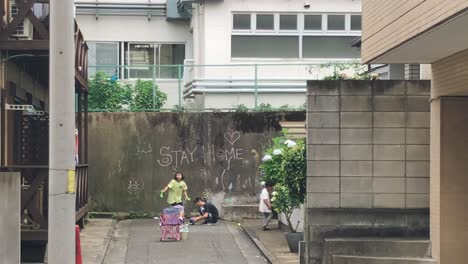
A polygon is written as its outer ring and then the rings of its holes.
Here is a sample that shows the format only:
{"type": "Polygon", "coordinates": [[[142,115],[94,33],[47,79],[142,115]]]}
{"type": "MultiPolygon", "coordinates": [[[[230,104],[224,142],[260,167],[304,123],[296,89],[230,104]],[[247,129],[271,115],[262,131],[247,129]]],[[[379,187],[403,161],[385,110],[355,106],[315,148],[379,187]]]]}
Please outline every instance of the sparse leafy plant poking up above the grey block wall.
{"type": "Polygon", "coordinates": [[[322,68],[334,67],[333,74],[325,76],[323,80],[377,80],[377,74],[369,73],[366,65],[359,62],[344,64],[325,64],[322,68]]]}

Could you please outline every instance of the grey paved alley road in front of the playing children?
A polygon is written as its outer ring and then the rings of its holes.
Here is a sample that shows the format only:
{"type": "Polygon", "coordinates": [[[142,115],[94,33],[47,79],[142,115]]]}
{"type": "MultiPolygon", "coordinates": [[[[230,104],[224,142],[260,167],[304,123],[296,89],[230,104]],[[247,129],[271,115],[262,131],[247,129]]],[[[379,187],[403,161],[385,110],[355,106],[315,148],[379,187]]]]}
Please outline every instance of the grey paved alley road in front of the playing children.
{"type": "MultiPolygon", "coordinates": [[[[88,228],[92,229],[88,225],[88,228]]],[[[106,229],[106,228],[104,228],[106,229]]],[[[108,228],[107,228],[108,229],[108,228]]],[[[86,230],[86,229],[85,229],[86,230]]],[[[188,239],[179,242],[160,242],[160,229],[153,219],[125,220],[113,229],[110,243],[102,260],[97,256],[96,245],[107,237],[100,231],[96,241],[84,239],[82,232],[83,255],[86,264],[150,264],[150,263],[226,263],[264,264],[267,260],[255,244],[237,226],[220,222],[213,226],[190,226],[188,239]],[[93,253],[94,252],[94,253],[93,253]]]]}

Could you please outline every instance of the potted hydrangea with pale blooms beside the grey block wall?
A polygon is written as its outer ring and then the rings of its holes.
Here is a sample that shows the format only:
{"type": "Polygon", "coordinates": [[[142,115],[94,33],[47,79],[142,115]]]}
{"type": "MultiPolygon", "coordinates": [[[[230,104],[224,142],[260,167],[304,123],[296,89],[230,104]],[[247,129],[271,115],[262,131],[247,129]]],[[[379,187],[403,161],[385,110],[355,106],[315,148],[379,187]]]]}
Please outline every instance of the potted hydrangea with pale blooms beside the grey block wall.
{"type": "Polygon", "coordinates": [[[303,140],[287,140],[286,136],[273,140],[273,148],[263,158],[262,180],[275,184],[272,205],[286,218],[286,240],[292,252],[298,252],[303,233],[297,232],[298,223],[291,222],[295,209],[301,207],[306,197],[306,146],[303,140]]]}

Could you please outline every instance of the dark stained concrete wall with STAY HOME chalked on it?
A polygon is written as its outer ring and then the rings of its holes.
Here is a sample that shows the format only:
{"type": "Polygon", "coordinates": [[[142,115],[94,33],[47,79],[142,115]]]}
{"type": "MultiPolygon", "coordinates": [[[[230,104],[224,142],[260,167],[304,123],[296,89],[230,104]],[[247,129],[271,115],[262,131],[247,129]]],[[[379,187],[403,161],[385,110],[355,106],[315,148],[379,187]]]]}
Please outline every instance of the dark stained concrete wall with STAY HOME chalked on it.
{"type": "Polygon", "coordinates": [[[280,121],[304,113],[92,113],[90,191],[94,210],[153,211],[176,170],[189,194],[222,205],[257,203],[260,159],[280,121]]]}

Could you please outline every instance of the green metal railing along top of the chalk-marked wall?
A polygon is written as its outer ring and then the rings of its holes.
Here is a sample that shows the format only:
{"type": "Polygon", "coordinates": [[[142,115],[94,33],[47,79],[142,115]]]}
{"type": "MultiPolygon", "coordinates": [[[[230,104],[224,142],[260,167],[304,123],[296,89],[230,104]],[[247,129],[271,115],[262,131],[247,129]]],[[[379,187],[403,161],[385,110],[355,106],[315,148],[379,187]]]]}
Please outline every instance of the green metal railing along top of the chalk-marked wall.
{"type": "MultiPolygon", "coordinates": [[[[186,60],[184,65],[92,65],[89,66],[89,76],[92,79],[96,73],[104,72],[109,79],[130,85],[137,80],[151,80],[154,85],[153,101],[157,100],[156,91],[167,94],[167,102],[163,107],[137,109],[139,111],[181,110],[187,105],[187,101],[201,94],[226,94],[226,96],[248,94],[251,100],[240,101],[237,105],[222,109],[190,107],[185,110],[233,111],[239,110],[239,106],[242,105],[251,106],[244,110],[258,110],[262,104],[269,105],[272,109],[275,108],[268,100],[260,101],[261,95],[266,97],[265,95],[268,94],[297,94],[298,97],[304,96],[305,99],[307,80],[332,78],[339,74],[354,74],[354,69],[346,69],[343,65],[350,65],[350,63],[194,65],[193,61],[186,60]]],[[[89,110],[112,111],[113,109],[91,108],[89,110]]],[[[136,109],[123,107],[121,110],[136,109]]]]}

